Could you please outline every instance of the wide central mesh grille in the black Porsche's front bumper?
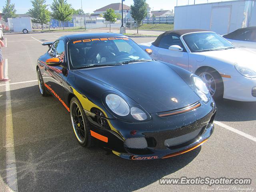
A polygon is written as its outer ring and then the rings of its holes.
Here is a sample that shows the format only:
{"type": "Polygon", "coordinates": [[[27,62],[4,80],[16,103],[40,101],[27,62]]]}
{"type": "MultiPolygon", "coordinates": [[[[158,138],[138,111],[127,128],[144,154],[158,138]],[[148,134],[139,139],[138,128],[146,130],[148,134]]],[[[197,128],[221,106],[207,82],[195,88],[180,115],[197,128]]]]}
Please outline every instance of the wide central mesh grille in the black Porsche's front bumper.
{"type": "Polygon", "coordinates": [[[174,137],[171,139],[166,139],[164,141],[164,145],[166,147],[172,147],[172,146],[176,146],[182,143],[186,143],[194,138],[196,138],[196,136],[198,136],[198,134],[200,133],[201,129],[195,130],[191,133],[182,135],[182,136],[178,136],[178,137],[174,137]]]}

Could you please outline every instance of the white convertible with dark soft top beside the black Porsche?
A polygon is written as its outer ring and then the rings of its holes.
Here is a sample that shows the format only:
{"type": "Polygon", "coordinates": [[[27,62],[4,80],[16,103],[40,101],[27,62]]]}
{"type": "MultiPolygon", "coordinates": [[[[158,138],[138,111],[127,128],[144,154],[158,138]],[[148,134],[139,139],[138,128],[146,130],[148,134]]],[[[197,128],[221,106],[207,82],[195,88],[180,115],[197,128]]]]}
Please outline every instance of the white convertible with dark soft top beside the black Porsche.
{"type": "Polygon", "coordinates": [[[155,60],[197,74],[215,99],[256,101],[255,50],[236,48],[205,30],[168,31],[140,46],[155,60]]]}

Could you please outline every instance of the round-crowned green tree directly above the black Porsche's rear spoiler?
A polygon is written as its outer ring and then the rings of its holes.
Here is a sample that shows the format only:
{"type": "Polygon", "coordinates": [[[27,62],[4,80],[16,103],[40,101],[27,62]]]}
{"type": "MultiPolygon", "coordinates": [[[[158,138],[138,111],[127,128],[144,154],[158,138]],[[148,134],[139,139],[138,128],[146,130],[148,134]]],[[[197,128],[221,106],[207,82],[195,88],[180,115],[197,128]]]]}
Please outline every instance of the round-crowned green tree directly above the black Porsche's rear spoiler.
{"type": "MultiPolygon", "coordinates": [[[[71,4],[67,3],[67,0],[53,0],[52,5],[52,18],[56,20],[70,21],[72,20],[73,8],[71,4]]],[[[64,30],[64,23],[63,23],[64,30]]]]}

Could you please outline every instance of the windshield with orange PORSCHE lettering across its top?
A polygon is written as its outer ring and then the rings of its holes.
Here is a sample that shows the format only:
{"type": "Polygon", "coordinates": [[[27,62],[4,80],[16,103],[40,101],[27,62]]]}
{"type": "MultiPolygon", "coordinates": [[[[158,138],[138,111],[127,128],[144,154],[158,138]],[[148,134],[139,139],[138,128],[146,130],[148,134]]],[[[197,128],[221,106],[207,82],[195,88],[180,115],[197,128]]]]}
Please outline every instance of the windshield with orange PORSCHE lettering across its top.
{"type": "Polygon", "coordinates": [[[152,60],[138,44],[124,36],[72,40],[68,52],[70,69],[152,60]]]}

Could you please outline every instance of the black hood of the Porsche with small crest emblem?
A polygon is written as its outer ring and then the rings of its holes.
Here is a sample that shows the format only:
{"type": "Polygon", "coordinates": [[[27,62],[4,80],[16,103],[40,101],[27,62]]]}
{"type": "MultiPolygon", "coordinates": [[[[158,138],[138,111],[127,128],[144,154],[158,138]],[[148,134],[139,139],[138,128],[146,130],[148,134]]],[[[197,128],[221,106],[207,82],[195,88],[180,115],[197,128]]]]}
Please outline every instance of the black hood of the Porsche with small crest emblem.
{"type": "Polygon", "coordinates": [[[149,114],[182,108],[200,100],[174,70],[157,61],[87,68],[78,72],[116,88],[149,114]]]}

